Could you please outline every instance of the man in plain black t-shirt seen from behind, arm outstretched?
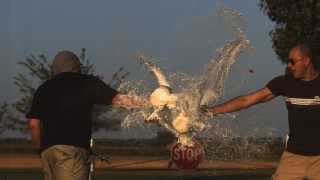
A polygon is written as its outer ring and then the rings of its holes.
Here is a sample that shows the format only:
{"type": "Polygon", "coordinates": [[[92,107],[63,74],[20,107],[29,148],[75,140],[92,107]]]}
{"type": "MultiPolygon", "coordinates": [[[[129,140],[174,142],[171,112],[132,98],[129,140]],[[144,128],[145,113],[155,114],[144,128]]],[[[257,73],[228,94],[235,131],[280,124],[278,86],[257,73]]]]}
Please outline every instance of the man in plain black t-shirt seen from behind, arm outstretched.
{"type": "Polygon", "coordinates": [[[119,93],[97,77],[81,74],[80,61],[72,52],[59,52],[53,71],[55,76],[36,90],[26,115],[32,142],[40,149],[46,180],[88,179],[93,106],[131,108],[147,103],[119,93]]]}

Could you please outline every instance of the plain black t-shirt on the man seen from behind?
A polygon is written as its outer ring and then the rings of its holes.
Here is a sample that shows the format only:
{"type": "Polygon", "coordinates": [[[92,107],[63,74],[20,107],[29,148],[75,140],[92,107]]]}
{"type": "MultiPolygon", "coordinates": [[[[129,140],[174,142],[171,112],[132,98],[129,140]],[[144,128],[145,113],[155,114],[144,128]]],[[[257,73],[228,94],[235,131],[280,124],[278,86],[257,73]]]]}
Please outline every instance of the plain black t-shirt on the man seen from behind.
{"type": "Polygon", "coordinates": [[[57,144],[88,149],[94,104],[110,105],[117,93],[99,78],[79,73],[61,73],[43,83],[27,114],[41,121],[40,150],[57,144]]]}

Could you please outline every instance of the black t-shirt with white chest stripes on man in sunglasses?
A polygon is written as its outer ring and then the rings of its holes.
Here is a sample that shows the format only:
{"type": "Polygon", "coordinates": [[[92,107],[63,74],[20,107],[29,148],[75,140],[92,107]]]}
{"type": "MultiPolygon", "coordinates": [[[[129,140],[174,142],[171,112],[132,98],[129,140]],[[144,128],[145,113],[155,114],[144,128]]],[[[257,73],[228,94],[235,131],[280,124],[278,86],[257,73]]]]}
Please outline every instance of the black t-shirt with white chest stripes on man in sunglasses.
{"type": "Polygon", "coordinates": [[[311,81],[279,76],[267,84],[275,96],[284,96],[289,118],[287,150],[320,155],[320,76],[311,81]]]}

